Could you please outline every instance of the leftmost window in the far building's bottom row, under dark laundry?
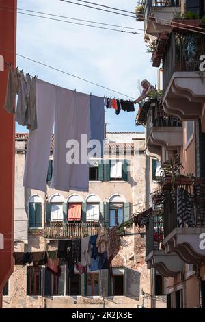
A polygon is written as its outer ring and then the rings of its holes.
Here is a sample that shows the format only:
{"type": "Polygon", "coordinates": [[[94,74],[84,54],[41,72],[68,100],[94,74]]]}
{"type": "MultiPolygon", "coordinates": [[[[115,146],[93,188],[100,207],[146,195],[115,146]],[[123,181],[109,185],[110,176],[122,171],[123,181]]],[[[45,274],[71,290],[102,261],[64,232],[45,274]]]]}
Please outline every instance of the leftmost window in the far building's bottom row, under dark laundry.
{"type": "Polygon", "coordinates": [[[27,267],[27,295],[40,295],[40,267],[27,267]]]}

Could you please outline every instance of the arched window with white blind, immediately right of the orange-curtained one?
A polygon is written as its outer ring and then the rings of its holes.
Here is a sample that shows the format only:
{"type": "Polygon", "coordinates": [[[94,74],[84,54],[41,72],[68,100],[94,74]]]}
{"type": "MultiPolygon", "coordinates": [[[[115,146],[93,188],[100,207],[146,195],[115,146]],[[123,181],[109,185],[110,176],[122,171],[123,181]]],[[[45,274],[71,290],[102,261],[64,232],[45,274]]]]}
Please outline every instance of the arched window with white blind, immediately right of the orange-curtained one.
{"type": "Polygon", "coordinates": [[[100,197],[98,195],[88,195],[85,199],[87,203],[86,208],[86,221],[98,222],[100,219],[100,197]]]}

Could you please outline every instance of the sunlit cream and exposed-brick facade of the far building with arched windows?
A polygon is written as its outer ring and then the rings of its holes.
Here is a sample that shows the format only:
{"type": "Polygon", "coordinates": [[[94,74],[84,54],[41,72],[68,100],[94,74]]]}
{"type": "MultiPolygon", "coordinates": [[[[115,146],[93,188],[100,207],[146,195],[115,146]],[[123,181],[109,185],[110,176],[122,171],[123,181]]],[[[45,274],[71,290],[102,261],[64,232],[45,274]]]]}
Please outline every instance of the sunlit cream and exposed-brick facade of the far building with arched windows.
{"type": "MultiPolygon", "coordinates": [[[[99,214],[106,228],[118,225],[141,212],[146,203],[146,156],[143,133],[108,132],[104,159],[90,166],[89,192],[68,193],[49,188],[52,176],[53,143],[46,193],[23,188],[28,134],[16,134],[14,252],[56,250],[58,241],[100,230],[99,214]],[[126,160],[120,173],[112,161],[126,160]],[[80,208],[81,221],[68,221],[70,206],[80,208]],[[93,223],[90,213],[96,216],[93,223]]],[[[115,164],[116,164],[115,162],[115,164]]],[[[151,184],[154,184],[154,182],[151,184]]],[[[4,308],[150,308],[150,271],[146,267],[145,238],[139,229],[126,230],[120,251],[109,270],[90,271],[68,277],[66,265],[56,277],[44,265],[14,264],[14,273],[3,290],[4,308]]],[[[86,235],[87,236],[87,235],[86,235]]],[[[165,306],[164,299],[157,299],[165,306]]]]}

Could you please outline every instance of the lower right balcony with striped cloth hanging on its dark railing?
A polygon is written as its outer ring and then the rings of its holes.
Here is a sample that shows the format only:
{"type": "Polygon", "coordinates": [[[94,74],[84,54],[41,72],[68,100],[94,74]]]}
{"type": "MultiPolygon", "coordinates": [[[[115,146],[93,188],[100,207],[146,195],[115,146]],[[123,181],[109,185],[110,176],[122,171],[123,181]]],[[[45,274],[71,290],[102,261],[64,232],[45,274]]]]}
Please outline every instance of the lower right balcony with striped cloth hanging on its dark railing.
{"type": "Polygon", "coordinates": [[[205,185],[180,186],[167,193],[164,201],[164,245],[189,264],[202,263],[205,249],[205,185]],[[201,242],[201,243],[200,243],[201,242]]]}

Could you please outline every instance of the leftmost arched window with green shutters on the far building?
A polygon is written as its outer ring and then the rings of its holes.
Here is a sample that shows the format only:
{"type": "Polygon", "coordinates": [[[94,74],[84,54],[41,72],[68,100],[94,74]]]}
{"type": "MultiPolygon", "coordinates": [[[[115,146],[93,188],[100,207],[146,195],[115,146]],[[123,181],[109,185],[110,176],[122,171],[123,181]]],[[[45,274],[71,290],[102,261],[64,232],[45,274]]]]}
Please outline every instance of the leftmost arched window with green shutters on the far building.
{"type": "Polygon", "coordinates": [[[42,227],[42,197],[33,195],[29,199],[29,228],[42,227]]]}

